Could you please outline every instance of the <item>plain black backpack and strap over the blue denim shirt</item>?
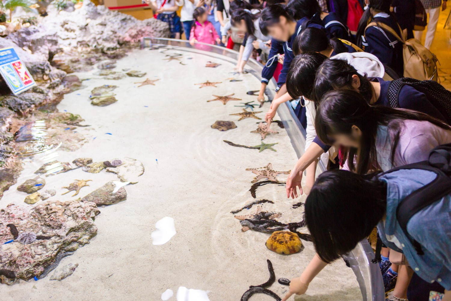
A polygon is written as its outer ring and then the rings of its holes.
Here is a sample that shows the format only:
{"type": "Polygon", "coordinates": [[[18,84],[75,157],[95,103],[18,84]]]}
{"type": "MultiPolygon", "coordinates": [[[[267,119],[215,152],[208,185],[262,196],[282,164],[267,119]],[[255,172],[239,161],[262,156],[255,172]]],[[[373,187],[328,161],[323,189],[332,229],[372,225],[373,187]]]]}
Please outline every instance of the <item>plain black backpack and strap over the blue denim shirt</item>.
{"type": "MultiPolygon", "coordinates": [[[[421,209],[451,193],[451,144],[442,144],[433,148],[429,153],[427,161],[396,167],[378,176],[401,169],[422,169],[432,171],[437,175],[431,183],[415,190],[405,197],[396,208],[396,218],[398,223],[405,235],[410,237],[407,233],[407,223],[410,218],[421,209]]],[[[413,239],[411,239],[411,241],[417,254],[423,255],[424,252],[419,242],[413,239]]]]}

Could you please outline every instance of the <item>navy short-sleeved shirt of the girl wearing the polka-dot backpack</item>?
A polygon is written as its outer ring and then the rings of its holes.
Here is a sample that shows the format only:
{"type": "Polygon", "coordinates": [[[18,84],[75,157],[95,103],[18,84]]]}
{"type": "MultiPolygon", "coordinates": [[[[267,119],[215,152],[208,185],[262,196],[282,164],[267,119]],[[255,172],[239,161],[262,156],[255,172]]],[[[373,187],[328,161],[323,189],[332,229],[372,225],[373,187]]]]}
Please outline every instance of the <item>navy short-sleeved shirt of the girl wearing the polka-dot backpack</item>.
{"type": "MultiPolygon", "coordinates": [[[[384,80],[379,77],[375,77],[371,79],[371,81],[377,81],[381,84],[381,93],[377,101],[373,103],[373,106],[390,107],[390,101],[388,99],[388,86],[391,81],[384,80]]],[[[401,109],[419,111],[446,122],[446,118],[442,115],[442,113],[440,113],[440,111],[437,110],[436,107],[434,107],[431,102],[429,102],[426,94],[419,92],[417,89],[409,85],[404,85],[400,89],[398,102],[401,109]]],[[[327,152],[329,148],[331,148],[330,145],[322,143],[318,136],[313,139],[313,142],[318,144],[324,152],[327,152]]]]}

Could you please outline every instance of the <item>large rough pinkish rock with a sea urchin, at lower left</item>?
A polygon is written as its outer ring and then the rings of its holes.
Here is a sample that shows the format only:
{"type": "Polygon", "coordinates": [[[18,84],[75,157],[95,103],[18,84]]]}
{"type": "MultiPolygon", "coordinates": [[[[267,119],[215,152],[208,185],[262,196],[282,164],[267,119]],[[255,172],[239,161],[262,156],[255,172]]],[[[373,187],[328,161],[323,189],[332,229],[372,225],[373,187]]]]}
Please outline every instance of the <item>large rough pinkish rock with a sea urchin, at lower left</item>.
{"type": "Polygon", "coordinates": [[[19,233],[32,232],[50,238],[28,245],[19,242],[1,245],[12,235],[8,227],[0,227],[0,266],[16,275],[14,279],[0,276],[0,282],[11,285],[19,279],[29,280],[43,273],[58,254],[89,243],[97,233],[93,219],[99,213],[96,204],[79,200],[43,201],[30,210],[14,204],[1,209],[0,224],[12,223],[19,233]]]}

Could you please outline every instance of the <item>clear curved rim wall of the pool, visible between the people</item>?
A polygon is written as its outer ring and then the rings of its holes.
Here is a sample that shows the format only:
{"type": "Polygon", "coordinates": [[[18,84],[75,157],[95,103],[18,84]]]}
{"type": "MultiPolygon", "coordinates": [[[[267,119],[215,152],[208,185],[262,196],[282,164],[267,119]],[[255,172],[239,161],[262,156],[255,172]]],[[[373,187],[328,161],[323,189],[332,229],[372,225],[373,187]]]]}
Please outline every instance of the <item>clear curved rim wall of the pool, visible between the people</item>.
{"type": "MultiPolygon", "coordinates": [[[[211,56],[217,59],[226,60],[233,64],[236,64],[238,59],[238,52],[227,49],[225,47],[196,43],[191,46],[186,40],[168,39],[168,38],[156,38],[156,37],[144,37],[141,46],[170,46],[172,49],[179,51],[189,51],[200,53],[206,56],[211,56]],[[196,45],[202,45],[202,49],[196,48],[196,45]],[[182,48],[183,47],[183,48],[182,48]]],[[[246,70],[253,74],[259,80],[262,79],[263,65],[256,60],[249,59],[246,64],[246,70]]],[[[266,94],[269,99],[274,97],[274,91],[276,89],[276,81],[272,79],[268,83],[266,94]]],[[[305,130],[299,123],[298,118],[293,111],[293,108],[288,102],[279,106],[277,113],[279,114],[285,130],[291,140],[291,144],[295,149],[296,155],[300,157],[304,153],[305,148],[305,130]]],[[[318,164],[318,171],[325,171],[326,168],[318,164]]],[[[350,254],[345,256],[346,262],[353,269],[357,281],[359,282],[360,290],[364,301],[383,301],[385,300],[384,286],[382,283],[382,275],[378,264],[373,264],[371,260],[374,258],[374,252],[369,245],[368,241],[361,241],[350,254]]]]}

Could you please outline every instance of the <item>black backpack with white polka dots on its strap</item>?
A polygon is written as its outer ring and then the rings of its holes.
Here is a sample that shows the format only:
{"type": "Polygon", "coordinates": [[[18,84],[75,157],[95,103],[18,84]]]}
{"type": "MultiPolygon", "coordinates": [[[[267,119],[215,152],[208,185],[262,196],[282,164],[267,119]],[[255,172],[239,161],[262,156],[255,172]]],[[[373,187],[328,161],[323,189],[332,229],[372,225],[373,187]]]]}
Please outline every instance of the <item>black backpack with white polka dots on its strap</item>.
{"type": "Polygon", "coordinates": [[[424,93],[433,106],[445,117],[446,123],[451,125],[451,91],[433,80],[418,80],[408,77],[396,79],[391,81],[388,86],[387,96],[390,107],[399,108],[399,92],[404,85],[409,85],[424,93]]]}

